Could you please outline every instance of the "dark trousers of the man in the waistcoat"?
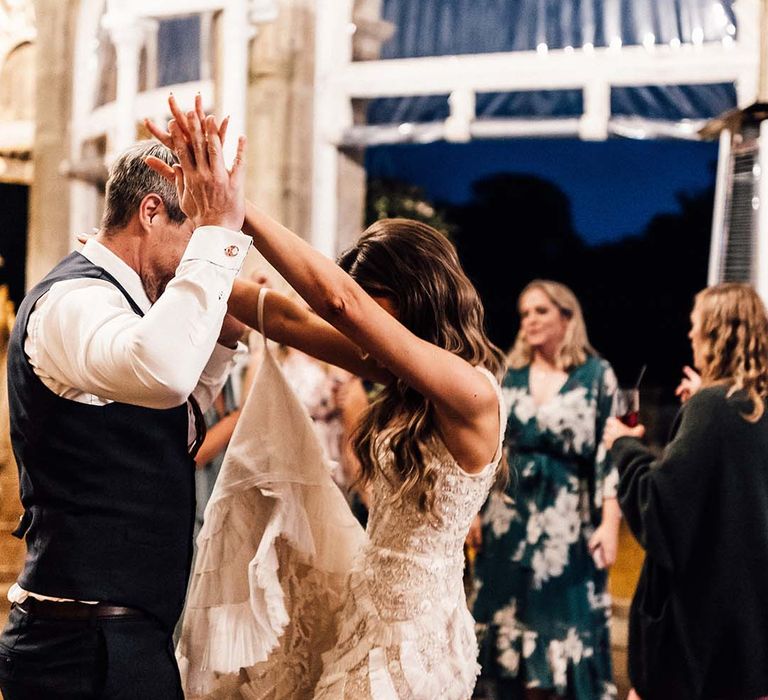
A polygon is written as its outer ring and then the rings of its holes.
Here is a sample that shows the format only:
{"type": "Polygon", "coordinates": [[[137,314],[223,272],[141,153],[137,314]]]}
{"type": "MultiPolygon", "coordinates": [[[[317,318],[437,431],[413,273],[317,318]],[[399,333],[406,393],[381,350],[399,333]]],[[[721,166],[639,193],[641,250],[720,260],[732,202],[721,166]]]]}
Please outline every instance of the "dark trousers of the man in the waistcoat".
{"type": "Polygon", "coordinates": [[[5,700],[183,700],[170,633],[149,617],[54,620],[15,605],[0,635],[5,700]]]}

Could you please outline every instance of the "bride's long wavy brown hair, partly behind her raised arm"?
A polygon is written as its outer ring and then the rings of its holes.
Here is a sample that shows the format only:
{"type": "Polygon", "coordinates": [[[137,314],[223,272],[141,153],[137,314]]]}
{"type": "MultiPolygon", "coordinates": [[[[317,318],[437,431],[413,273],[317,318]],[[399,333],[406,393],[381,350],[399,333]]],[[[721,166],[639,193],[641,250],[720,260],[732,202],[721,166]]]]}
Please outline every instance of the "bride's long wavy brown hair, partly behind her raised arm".
{"type": "MultiPolygon", "coordinates": [[[[485,335],[483,305],[439,231],[410,219],[380,219],[338,263],[368,294],[391,300],[414,335],[501,379],[504,356],[485,335]]],[[[439,437],[434,406],[400,379],[384,387],[353,435],[364,483],[380,468],[385,437],[400,480],[395,498],[412,495],[422,512],[434,514],[437,473],[423,448],[439,437]]]]}

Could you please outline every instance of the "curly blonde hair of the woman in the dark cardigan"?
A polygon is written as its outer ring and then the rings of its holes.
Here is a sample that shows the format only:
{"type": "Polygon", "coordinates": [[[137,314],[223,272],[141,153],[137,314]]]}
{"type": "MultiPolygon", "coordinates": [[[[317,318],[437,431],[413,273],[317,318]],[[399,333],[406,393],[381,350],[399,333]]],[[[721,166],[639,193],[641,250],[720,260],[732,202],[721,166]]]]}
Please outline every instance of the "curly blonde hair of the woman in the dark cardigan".
{"type": "Polygon", "coordinates": [[[729,396],[743,391],[752,401],[744,417],[755,422],[768,397],[768,318],[757,292],[748,284],[707,287],[696,295],[703,343],[703,386],[729,383],[729,396]]]}

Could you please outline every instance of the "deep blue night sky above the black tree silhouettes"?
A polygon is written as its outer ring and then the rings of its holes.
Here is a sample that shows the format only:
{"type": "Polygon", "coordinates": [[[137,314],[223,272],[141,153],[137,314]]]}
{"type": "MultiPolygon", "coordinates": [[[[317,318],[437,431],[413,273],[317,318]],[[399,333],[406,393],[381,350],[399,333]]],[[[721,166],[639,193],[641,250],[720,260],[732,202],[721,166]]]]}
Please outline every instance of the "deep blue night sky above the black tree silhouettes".
{"type": "Polygon", "coordinates": [[[712,186],[716,161],[716,143],[625,139],[438,142],[366,155],[370,178],[418,185],[436,202],[466,202],[474,180],[498,172],[550,180],[570,199],[574,227],[589,244],[640,233],[656,214],[677,211],[676,193],[712,186]]]}

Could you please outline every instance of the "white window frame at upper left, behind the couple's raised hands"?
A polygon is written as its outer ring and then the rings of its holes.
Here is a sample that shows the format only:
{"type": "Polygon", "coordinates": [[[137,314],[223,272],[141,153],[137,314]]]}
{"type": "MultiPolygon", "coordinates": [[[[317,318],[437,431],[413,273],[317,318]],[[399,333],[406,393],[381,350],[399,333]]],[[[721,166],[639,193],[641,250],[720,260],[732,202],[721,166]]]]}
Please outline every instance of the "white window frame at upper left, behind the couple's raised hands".
{"type": "MultiPolygon", "coordinates": [[[[70,158],[78,162],[91,139],[106,137],[106,162],[135,140],[136,124],[144,117],[162,122],[166,99],[173,92],[182,105],[190,105],[196,93],[207,110],[229,115],[233,134],[246,132],[249,42],[259,23],[272,21],[276,0],[83,0],[80,4],[72,75],[70,158]],[[106,8],[106,12],[104,12],[106,8]],[[139,58],[146,32],[157,19],[196,13],[219,13],[218,29],[226,41],[218,41],[216,76],[139,92],[139,58]],[[117,53],[117,96],[113,102],[93,108],[97,75],[95,41],[99,23],[106,27],[117,53]]],[[[234,157],[237,139],[229,139],[225,155],[234,157]]],[[[72,231],[90,230],[98,191],[87,182],[70,185],[72,231]]]]}

